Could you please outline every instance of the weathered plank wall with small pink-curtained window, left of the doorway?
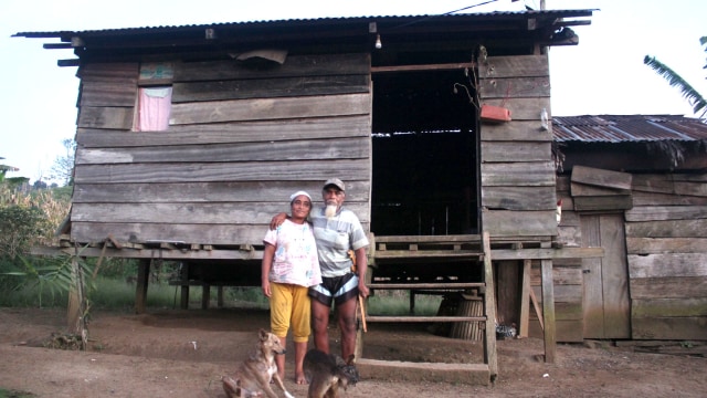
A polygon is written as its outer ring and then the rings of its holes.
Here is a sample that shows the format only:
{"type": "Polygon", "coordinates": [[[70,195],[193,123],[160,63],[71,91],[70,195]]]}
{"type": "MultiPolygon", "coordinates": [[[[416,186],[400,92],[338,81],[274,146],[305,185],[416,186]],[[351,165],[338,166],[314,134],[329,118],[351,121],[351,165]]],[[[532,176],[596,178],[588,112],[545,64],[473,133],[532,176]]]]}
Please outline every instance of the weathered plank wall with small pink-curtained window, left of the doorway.
{"type": "Polygon", "coordinates": [[[320,203],[329,177],[347,184],[347,206],[369,229],[368,54],[169,67],[166,132],[133,130],[139,63],[80,71],[73,240],[262,244],[289,195],[306,189],[320,203]]]}

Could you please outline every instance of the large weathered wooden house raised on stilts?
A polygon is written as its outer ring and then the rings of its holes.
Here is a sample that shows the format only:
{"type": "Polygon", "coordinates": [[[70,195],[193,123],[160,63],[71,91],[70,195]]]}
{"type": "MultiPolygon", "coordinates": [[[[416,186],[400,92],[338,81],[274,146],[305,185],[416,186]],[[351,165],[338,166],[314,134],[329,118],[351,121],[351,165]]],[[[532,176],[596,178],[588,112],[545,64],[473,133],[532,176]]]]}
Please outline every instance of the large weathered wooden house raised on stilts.
{"type": "Polygon", "coordinates": [[[392,321],[479,323],[488,379],[497,373],[496,323],[528,333],[531,263],[540,264],[542,300],[532,302],[545,303],[552,362],[552,259],[601,255],[551,244],[558,229],[547,50],[578,44],[570,27],[591,15],[547,10],[17,35],[73,49],[74,57],[59,61],[77,66],[81,78],[63,238],[88,245],[82,255],[141,259],[138,312],[155,259],[184,264],[182,302],[192,284],[258,285],[271,217],[287,211],[293,191],[316,198],[324,180],[338,177],[347,206],[371,233],[371,289],[484,297],[481,315],[392,321]]]}

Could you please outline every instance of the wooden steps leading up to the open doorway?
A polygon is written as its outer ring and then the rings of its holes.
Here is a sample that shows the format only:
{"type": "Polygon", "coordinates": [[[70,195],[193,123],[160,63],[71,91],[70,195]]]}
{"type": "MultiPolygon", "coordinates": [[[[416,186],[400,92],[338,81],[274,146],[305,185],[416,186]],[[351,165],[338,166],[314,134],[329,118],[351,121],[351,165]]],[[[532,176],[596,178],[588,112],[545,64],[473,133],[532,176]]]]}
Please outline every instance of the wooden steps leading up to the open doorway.
{"type": "MultiPolygon", "coordinates": [[[[367,275],[372,277],[367,283],[371,291],[376,290],[409,290],[412,294],[414,291],[425,292],[463,292],[468,290],[477,290],[483,292],[483,314],[482,315],[456,315],[456,316],[371,316],[366,314],[368,323],[460,323],[476,322],[482,325],[482,335],[484,341],[484,364],[473,364],[467,367],[469,373],[477,373],[472,379],[486,379],[494,381],[498,375],[498,365],[496,357],[496,304],[494,276],[490,259],[490,242],[488,233],[466,234],[466,235],[442,235],[442,237],[370,237],[371,245],[369,250],[370,272],[367,275]],[[425,263],[435,263],[436,261],[456,261],[469,264],[483,264],[483,274],[481,282],[440,280],[426,281],[424,277],[395,277],[394,275],[383,276],[383,281],[376,276],[376,271],[383,269],[386,264],[410,264],[418,266],[418,270],[424,270],[425,263]]],[[[402,265],[405,266],[405,265],[402,265]]],[[[477,269],[477,271],[481,271],[477,269]]],[[[412,301],[411,301],[412,306],[412,301]]],[[[362,348],[357,354],[361,354],[362,348]]],[[[360,356],[359,356],[360,357],[360,356]]],[[[382,363],[382,362],[381,362],[382,363]]],[[[407,366],[415,367],[419,364],[403,363],[407,366]]],[[[383,366],[382,364],[378,364],[383,366]]],[[[435,364],[425,364],[425,367],[433,369],[435,364]]],[[[439,364],[441,371],[449,371],[450,364],[439,364]]],[[[397,366],[400,366],[399,364],[397,366]]],[[[404,366],[404,365],[403,365],[404,366]]],[[[464,371],[462,369],[462,371],[464,371]]],[[[482,380],[483,381],[483,380],[482,380]]]]}

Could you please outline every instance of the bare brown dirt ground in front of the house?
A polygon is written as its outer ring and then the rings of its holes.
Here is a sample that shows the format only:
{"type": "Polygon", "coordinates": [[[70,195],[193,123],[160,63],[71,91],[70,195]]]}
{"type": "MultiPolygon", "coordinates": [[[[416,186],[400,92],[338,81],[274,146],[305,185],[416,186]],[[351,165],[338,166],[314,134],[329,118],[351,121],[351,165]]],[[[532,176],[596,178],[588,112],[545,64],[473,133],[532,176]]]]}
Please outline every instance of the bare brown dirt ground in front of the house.
{"type": "MultiPolygon", "coordinates": [[[[65,329],[64,310],[0,308],[0,388],[39,397],[224,397],[220,377],[255,347],[267,328],[265,311],[150,308],[133,315],[94,311],[87,352],[45,348],[65,329]]],[[[338,336],[331,331],[330,337],[338,336]]],[[[363,357],[411,362],[473,363],[477,342],[430,334],[423,326],[369,324],[363,357]]],[[[336,342],[334,342],[336,346],[336,342]]],[[[611,342],[559,344],[555,364],[542,360],[537,338],[498,342],[496,381],[489,386],[362,379],[342,397],[704,397],[707,359],[636,352],[611,342]],[[591,344],[590,344],[591,343],[591,344]]],[[[307,387],[286,385],[296,397],[307,387]]]]}

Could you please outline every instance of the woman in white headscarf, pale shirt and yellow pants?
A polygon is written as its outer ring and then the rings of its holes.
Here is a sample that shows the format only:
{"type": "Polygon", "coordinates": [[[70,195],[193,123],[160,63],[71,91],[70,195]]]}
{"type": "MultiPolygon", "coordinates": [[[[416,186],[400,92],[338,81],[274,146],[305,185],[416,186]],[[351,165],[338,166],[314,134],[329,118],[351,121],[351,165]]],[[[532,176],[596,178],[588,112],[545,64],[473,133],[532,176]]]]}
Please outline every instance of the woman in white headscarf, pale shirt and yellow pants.
{"type": "MultiPolygon", "coordinates": [[[[295,381],[305,384],[303,360],[312,333],[309,286],[321,283],[317,245],[307,217],[312,197],[297,191],[289,197],[292,216],[263,239],[262,287],[270,298],[271,328],[285,346],[291,326],[295,342],[295,381]]],[[[285,377],[285,355],[275,358],[281,379],[285,377]]]]}

